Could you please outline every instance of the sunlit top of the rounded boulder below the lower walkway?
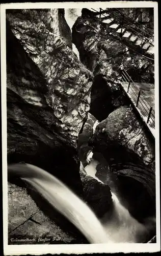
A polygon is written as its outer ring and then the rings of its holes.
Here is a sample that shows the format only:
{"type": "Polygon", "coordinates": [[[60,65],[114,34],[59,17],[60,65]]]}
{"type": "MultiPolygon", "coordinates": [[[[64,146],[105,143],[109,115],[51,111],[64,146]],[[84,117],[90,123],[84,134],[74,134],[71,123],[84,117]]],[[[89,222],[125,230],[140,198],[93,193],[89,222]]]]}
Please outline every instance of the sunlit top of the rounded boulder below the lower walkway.
{"type": "Polygon", "coordinates": [[[96,143],[99,141],[99,144],[103,143],[109,148],[110,155],[115,149],[119,155],[118,151],[122,148],[146,165],[151,165],[154,161],[154,144],[147,137],[135,113],[127,106],[118,108],[98,124],[95,139],[96,143]]]}

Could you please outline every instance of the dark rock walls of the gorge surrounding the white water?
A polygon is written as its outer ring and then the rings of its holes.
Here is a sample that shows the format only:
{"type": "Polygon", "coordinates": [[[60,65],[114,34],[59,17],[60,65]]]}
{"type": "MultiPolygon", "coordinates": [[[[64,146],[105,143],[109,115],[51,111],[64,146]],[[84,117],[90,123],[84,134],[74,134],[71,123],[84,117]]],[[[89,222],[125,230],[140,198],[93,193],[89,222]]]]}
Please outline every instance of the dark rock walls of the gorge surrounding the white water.
{"type": "MultiPolygon", "coordinates": [[[[138,79],[151,82],[153,63],[141,67],[145,58],[116,40],[86,9],[72,34],[63,9],[7,10],[6,18],[8,163],[27,162],[47,170],[99,217],[110,208],[110,188],[140,222],[154,216],[154,141],[129,106],[119,80],[124,65],[138,79]],[[100,162],[96,176],[104,185],[84,170],[92,150],[100,162]]],[[[51,216],[45,202],[37,203],[37,195],[21,181],[12,180],[8,193],[12,236],[30,230],[31,236],[50,233],[64,243],[87,243],[74,227],[69,232],[56,212],[51,216]],[[20,219],[19,194],[20,208],[25,209],[20,219]],[[27,200],[31,212],[26,212],[27,200]]]]}

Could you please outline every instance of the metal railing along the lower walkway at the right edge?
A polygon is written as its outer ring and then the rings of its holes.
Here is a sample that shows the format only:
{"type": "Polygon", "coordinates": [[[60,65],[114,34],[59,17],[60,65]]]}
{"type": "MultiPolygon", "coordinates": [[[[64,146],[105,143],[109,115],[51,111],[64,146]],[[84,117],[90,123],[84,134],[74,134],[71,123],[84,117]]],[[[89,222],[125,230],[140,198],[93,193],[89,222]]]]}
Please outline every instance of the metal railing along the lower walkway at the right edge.
{"type": "Polygon", "coordinates": [[[155,129],[155,111],[144,97],[141,90],[138,89],[136,83],[133,82],[124,68],[121,69],[121,80],[124,84],[124,90],[130,96],[135,106],[140,109],[141,114],[146,118],[146,123],[155,129]]]}

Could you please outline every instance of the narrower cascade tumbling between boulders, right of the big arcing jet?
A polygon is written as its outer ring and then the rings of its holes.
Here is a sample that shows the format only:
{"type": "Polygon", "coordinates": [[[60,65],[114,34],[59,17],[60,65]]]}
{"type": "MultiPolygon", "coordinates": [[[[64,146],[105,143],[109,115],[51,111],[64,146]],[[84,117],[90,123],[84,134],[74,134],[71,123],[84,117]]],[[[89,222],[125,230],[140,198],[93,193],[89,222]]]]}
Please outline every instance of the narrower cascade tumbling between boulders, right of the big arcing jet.
{"type": "MultiPolygon", "coordinates": [[[[98,163],[98,161],[91,159],[85,170],[88,175],[103,183],[96,177],[98,163]]],[[[101,219],[110,240],[113,243],[143,243],[148,237],[151,225],[141,224],[134,219],[114,193],[112,193],[112,199],[114,203],[112,215],[107,212],[101,219]]]]}

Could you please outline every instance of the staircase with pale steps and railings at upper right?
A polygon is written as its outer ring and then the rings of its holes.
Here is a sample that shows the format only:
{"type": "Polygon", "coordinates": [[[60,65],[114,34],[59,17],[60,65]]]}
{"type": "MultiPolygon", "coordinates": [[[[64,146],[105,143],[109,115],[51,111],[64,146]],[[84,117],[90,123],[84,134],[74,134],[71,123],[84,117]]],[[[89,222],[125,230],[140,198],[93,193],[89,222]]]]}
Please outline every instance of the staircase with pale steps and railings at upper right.
{"type": "Polygon", "coordinates": [[[133,50],[153,59],[154,35],[152,30],[145,26],[142,26],[144,29],[140,28],[140,24],[135,19],[128,17],[117,8],[105,10],[90,8],[90,11],[93,12],[94,17],[99,18],[101,23],[106,24],[111,33],[121,38],[127,47],[130,45],[133,50]]]}

